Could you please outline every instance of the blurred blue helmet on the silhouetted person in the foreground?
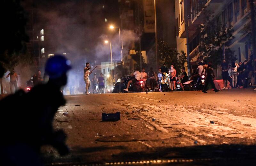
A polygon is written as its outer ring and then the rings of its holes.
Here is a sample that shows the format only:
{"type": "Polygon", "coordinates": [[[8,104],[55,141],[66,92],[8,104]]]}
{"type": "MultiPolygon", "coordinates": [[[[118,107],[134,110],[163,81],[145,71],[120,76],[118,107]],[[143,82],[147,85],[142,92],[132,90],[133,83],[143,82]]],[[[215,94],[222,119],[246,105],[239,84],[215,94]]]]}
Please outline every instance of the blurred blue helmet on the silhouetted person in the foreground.
{"type": "Polygon", "coordinates": [[[70,61],[62,55],[50,57],[45,64],[45,73],[52,79],[61,77],[70,69],[70,61]]]}

